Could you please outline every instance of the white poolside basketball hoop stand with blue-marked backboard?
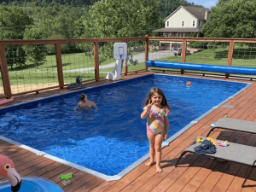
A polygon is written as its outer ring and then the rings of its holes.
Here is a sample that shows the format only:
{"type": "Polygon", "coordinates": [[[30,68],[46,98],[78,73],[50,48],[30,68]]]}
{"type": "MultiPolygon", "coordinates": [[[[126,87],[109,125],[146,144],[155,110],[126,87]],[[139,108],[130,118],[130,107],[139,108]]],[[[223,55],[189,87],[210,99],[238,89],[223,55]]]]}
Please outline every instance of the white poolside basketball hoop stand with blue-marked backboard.
{"type": "Polygon", "coordinates": [[[108,72],[106,79],[119,80],[121,79],[122,60],[127,57],[127,44],[116,43],[113,44],[113,59],[116,60],[112,72],[108,72]]]}

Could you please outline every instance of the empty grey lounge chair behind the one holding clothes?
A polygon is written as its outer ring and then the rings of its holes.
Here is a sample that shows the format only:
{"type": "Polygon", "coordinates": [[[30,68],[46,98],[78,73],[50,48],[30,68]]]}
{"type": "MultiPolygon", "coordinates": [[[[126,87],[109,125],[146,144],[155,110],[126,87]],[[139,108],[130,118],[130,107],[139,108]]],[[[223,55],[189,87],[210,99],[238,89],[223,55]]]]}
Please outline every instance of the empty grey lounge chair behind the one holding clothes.
{"type": "Polygon", "coordinates": [[[256,134],[256,122],[248,120],[221,118],[218,119],[217,123],[208,132],[207,137],[214,129],[218,128],[224,130],[241,131],[256,134]]]}

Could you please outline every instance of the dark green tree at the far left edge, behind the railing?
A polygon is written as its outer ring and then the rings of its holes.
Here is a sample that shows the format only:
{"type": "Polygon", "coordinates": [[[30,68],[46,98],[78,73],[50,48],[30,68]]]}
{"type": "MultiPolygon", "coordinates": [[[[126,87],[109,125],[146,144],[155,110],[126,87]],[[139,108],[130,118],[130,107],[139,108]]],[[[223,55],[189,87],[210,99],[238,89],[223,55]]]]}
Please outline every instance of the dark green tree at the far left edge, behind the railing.
{"type": "MultiPolygon", "coordinates": [[[[0,7],[0,39],[23,39],[26,27],[32,26],[33,20],[19,7],[0,7]]],[[[21,46],[5,47],[7,64],[25,64],[26,55],[21,46]]]]}

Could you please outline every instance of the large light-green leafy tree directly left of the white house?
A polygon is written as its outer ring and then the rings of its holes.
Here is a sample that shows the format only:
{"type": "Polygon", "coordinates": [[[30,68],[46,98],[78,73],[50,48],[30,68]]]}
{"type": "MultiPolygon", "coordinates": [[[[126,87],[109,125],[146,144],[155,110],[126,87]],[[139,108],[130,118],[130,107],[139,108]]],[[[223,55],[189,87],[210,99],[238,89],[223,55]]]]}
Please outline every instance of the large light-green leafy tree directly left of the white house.
{"type": "Polygon", "coordinates": [[[161,27],[156,0],[104,0],[84,19],[83,38],[144,37],[161,27]]]}

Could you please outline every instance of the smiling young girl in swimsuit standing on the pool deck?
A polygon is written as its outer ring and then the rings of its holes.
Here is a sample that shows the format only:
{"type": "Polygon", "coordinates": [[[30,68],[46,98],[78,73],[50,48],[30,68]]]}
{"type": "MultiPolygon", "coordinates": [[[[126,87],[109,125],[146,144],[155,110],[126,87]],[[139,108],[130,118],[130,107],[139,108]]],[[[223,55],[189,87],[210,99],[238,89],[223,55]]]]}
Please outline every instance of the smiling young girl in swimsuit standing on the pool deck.
{"type": "Polygon", "coordinates": [[[166,96],[160,88],[152,88],[149,90],[146,98],[145,107],[141,118],[147,120],[147,135],[150,144],[149,154],[150,160],[145,166],[154,164],[154,154],[156,159],[156,172],[162,172],[160,167],[161,145],[163,139],[168,137],[169,121],[167,115],[171,112],[171,108],[167,104],[166,96]],[[165,131],[165,132],[164,132],[165,131]]]}

